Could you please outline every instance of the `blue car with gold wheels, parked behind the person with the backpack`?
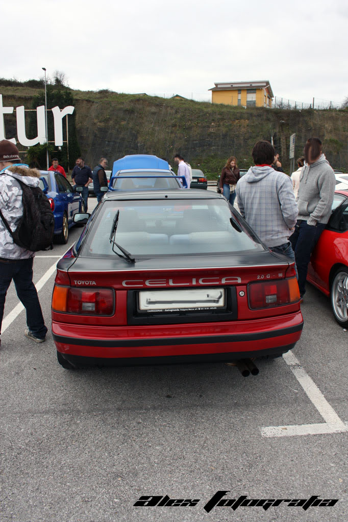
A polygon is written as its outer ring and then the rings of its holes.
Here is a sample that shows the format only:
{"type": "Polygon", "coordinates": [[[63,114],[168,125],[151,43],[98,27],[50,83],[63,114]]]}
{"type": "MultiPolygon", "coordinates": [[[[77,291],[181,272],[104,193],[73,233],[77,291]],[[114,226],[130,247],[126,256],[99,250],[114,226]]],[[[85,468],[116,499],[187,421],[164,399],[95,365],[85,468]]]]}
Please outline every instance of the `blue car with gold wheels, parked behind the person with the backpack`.
{"type": "Polygon", "coordinates": [[[85,211],[80,193],[59,172],[40,171],[40,188],[48,197],[54,216],[54,241],[65,244],[69,228],[74,226],[74,215],[85,211]]]}

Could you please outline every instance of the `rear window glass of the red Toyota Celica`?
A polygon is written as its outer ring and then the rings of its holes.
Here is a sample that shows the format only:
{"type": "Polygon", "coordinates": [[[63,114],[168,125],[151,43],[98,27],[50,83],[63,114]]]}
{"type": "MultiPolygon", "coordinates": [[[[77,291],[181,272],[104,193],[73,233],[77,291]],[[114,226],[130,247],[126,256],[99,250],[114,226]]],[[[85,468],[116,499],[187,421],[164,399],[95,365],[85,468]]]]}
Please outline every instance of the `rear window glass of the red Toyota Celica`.
{"type": "MultiPolygon", "coordinates": [[[[113,240],[134,256],[239,254],[264,250],[233,216],[225,200],[105,201],[86,234],[80,255],[116,255],[112,251],[110,233],[118,211],[113,240]]],[[[114,251],[122,254],[116,246],[114,251]]]]}

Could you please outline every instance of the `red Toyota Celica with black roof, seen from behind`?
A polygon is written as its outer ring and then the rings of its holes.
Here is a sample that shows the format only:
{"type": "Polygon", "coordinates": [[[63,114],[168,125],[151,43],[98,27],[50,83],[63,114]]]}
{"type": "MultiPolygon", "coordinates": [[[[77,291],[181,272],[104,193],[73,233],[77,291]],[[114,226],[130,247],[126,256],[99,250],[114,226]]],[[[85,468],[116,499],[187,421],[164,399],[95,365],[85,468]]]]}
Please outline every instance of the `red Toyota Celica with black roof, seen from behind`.
{"type": "Polygon", "coordinates": [[[302,328],[294,263],[216,193],[107,193],[57,266],[65,368],[277,357],[302,328]]]}

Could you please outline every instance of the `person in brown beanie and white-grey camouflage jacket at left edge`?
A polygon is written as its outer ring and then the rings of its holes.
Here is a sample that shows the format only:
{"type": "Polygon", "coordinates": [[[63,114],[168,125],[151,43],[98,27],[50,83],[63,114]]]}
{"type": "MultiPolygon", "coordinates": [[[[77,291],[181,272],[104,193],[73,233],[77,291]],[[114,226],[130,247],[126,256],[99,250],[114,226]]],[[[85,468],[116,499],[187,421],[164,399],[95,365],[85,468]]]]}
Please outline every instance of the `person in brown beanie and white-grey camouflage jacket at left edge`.
{"type": "MultiPolygon", "coordinates": [[[[19,151],[11,141],[6,139],[0,141],[0,335],[6,293],[11,280],[13,280],[18,298],[25,306],[27,312],[25,335],[35,342],[43,342],[47,333],[38,293],[32,281],[32,265],[35,254],[28,247],[20,246],[15,241],[24,245],[18,239],[16,233],[20,223],[23,221],[22,217],[24,217],[26,210],[23,203],[23,194],[26,191],[25,186],[30,188],[38,187],[39,177],[40,172],[38,170],[29,169],[28,165],[21,163],[19,151]]],[[[38,193],[36,195],[37,199],[41,197],[40,192],[39,188],[33,190],[34,194],[38,193]]],[[[44,198],[49,203],[47,197],[44,196],[44,198]]],[[[45,201],[43,198],[41,199],[42,205],[45,207],[45,201]]],[[[35,204],[32,206],[35,206],[35,204]]],[[[52,220],[50,219],[49,211],[45,211],[47,212],[47,221],[43,217],[43,224],[44,228],[50,229],[48,230],[50,234],[52,220]]],[[[30,212],[31,210],[29,209],[30,212]]],[[[53,215],[51,217],[53,219],[53,215]]],[[[27,217],[26,221],[28,222],[27,217]]],[[[24,241],[28,240],[29,245],[31,245],[31,238],[25,238],[26,235],[29,235],[28,232],[24,234],[24,241]]],[[[49,239],[45,241],[48,242],[49,239]]],[[[32,246],[32,248],[36,247],[32,246]]]]}

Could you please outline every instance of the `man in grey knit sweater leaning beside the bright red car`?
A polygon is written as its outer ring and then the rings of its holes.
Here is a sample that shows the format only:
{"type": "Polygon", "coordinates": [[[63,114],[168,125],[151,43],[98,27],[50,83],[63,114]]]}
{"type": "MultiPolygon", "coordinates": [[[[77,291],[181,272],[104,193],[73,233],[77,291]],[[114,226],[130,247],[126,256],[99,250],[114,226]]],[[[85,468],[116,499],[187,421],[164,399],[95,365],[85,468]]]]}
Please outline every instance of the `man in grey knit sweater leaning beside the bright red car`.
{"type": "Polygon", "coordinates": [[[309,138],[304,149],[305,167],[302,169],[297,195],[298,219],[290,238],[295,252],[298,286],[303,298],[310,254],[331,216],[335,175],[322,153],[319,138],[309,138]]]}

